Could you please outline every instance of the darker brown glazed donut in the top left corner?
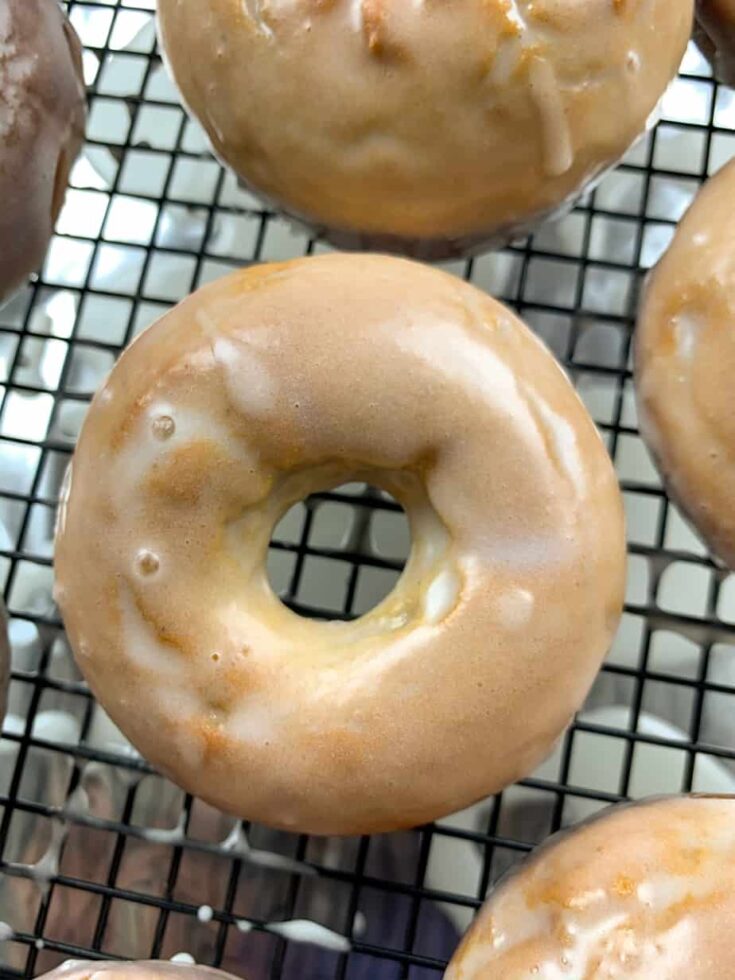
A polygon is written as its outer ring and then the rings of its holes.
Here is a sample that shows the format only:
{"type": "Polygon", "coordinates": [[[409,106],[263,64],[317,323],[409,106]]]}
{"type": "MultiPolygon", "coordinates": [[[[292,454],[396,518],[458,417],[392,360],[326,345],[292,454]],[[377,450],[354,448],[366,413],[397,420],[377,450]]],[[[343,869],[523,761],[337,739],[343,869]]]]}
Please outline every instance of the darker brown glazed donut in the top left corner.
{"type": "Polygon", "coordinates": [[[3,0],[0,300],[43,260],[84,119],[81,47],[57,0],[3,0]]]}

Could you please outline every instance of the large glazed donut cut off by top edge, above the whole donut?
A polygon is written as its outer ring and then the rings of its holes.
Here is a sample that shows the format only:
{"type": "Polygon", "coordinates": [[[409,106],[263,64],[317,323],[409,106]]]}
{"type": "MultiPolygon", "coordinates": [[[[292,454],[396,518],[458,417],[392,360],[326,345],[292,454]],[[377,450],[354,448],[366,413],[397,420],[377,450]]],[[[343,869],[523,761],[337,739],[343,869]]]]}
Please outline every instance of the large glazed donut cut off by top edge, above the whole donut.
{"type": "Polygon", "coordinates": [[[159,0],[215,153],[344,248],[526,233],[643,132],[693,0],[159,0]]]}

